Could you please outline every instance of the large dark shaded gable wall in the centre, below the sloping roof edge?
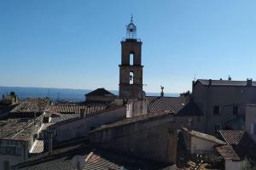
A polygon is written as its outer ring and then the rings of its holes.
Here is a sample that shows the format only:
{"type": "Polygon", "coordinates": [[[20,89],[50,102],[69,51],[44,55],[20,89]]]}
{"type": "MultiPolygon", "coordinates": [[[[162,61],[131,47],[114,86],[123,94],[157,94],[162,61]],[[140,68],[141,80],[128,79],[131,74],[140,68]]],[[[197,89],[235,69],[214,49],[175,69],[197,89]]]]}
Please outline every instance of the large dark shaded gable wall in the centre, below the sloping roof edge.
{"type": "Polygon", "coordinates": [[[187,116],[164,115],[105,127],[90,133],[90,141],[108,150],[119,150],[149,160],[175,163],[177,128],[185,125],[188,119],[187,116]]]}

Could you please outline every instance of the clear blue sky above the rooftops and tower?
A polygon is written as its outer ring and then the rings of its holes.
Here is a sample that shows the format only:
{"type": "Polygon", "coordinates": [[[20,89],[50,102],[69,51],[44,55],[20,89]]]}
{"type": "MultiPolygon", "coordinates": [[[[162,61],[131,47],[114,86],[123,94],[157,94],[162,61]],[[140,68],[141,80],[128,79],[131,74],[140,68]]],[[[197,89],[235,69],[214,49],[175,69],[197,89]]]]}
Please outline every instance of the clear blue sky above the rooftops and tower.
{"type": "Polygon", "coordinates": [[[131,14],[147,92],[256,80],[254,0],[1,0],[0,86],[118,89],[131,14]]]}

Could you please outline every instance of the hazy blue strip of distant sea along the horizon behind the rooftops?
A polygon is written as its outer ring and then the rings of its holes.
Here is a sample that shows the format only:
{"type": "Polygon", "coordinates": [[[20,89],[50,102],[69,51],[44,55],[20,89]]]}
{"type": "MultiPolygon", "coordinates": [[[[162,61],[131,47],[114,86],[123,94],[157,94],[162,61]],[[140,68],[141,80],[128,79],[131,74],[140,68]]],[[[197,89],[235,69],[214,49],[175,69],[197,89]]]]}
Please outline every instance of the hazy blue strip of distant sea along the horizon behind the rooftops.
{"type": "MultiPolygon", "coordinates": [[[[93,89],[94,90],[94,89],[93,89]]],[[[90,93],[90,89],[71,89],[71,88],[20,88],[20,87],[0,87],[0,99],[3,94],[14,91],[19,99],[49,97],[52,100],[62,101],[84,101],[84,94],[90,93]]],[[[113,94],[119,94],[118,90],[109,90],[113,94]]],[[[158,96],[160,93],[147,93],[147,95],[158,96]]],[[[165,93],[165,96],[177,97],[179,94],[165,93]]]]}

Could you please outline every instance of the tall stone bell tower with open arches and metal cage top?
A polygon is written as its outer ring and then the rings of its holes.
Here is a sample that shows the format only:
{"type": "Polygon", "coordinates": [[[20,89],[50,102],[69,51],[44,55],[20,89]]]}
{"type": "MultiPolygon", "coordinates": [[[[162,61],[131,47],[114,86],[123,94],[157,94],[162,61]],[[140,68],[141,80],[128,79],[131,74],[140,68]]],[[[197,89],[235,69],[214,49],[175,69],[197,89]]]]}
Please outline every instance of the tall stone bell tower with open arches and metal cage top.
{"type": "Polygon", "coordinates": [[[137,27],[132,16],[126,26],[126,38],[121,41],[121,65],[119,65],[119,97],[143,98],[142,44],[137,39],[137,27]]]}

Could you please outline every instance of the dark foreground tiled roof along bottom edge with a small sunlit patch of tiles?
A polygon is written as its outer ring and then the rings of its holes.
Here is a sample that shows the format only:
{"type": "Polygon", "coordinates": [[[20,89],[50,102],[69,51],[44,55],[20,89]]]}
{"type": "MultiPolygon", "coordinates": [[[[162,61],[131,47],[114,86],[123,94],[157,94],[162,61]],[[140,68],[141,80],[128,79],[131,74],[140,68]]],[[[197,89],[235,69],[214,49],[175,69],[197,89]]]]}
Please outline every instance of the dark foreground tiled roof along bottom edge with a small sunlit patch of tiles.
{"type": "Polygon", "coordinates": [[[64,148],[53,150],[52,155],[47,152],[32,156],[28,161],[20,163],[17,169],[61,169],[75,170],[76,165],[73,164],[73,157],[80,156],[84,161],[84,170],[92,169],[162,169],[168,167],[166,164],[156,163],[138,159],[134,156],[126,156],[118,152],[109,150],[96,149],[88,144],[72,144],[64,148]]]}

